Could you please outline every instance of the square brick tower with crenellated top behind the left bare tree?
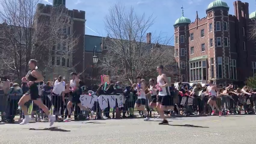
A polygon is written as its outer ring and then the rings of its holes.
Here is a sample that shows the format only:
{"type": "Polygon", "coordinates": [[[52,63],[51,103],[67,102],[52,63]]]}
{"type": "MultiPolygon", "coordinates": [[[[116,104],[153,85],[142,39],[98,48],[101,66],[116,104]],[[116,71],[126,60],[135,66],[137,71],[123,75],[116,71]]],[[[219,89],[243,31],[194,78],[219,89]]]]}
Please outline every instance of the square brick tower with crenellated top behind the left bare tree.
{"type": "MultiPolygon", "coordinates": [[[[40,16],[50,16],[50,8],[65,7],[65,0],[53,0],[52,5],[38,4],[37,10],[40,10],[40,16]]],[[[85,11],[68,10],[66,13],[71,17],[71,23],[63,28],[63,35],[72,35],[78,37],[78,44],[73,47],[75,49],[70,54],[64,55],[63,52],[57,49],[68,50],[68,43],[70,41],[61,42],[52,48],[52,55],[49,61],[54,65],[53,70],[46,73],[46,79],[52,79],[58,75],[68,77],[71,71],[82,73],[84,71],[84,35],[85,35],[85,11]]],[[[40,17],[39,17],[40,18],[40,17]]]]}

